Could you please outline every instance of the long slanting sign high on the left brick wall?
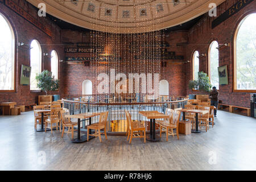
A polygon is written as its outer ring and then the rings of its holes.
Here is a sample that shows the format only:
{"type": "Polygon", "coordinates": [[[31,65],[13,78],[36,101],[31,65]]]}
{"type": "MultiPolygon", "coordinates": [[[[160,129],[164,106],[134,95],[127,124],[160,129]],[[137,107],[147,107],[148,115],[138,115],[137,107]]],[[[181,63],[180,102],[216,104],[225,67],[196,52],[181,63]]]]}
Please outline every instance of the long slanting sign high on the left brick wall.
{"type": "Polygon", "coordinates": [[[28,22],[34,24],[34,26],[38,27],[40,30],[42,30],[47,35],[52,36],[52,32],[51,32],[51,28],[50,27],[44,26],[37,19],[35,19],[30,14],[28,14],[25,10],[23,10],[21,7],[16,5],[16,3],[14,3],[13,1],[5,0],[5,5],[7,7],[9,7],[11,10],[13,10],[16,14],[22,16],[22,18],[26,19],[28,22]]]}

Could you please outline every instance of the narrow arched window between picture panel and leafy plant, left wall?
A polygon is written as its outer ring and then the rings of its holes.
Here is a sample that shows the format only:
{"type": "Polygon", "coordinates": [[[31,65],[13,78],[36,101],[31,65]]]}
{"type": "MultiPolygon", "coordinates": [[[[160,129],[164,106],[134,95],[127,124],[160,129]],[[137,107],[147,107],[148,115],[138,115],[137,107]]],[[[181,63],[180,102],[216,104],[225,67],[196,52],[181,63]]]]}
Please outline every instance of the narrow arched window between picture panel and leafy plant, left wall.
{"type": "Polygon", "coordinates": [[[37,40],[31,42],[30,49],[30,66],[31,66],[31,76],[30,76],[30,90],[40,90],[36,82],[36,73],[42,72],[42,49],[37,40]]]}

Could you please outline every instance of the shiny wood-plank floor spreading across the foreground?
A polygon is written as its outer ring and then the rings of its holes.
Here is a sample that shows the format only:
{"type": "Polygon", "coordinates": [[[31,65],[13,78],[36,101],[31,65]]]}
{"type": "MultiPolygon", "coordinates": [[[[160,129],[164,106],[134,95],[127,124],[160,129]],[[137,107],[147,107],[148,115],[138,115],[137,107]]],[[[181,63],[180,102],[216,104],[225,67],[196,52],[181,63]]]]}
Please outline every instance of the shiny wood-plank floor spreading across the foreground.
{"type": "Polygon", "coordinates": [[[115,136],[75,144],[59,131],[36,132],[32,111],[0,116],[0,169],[256,170],[256,119],[218,111],[215,121],[207,133],[168,142],[163,134],[161,142],[145,144],[115,136]]]}

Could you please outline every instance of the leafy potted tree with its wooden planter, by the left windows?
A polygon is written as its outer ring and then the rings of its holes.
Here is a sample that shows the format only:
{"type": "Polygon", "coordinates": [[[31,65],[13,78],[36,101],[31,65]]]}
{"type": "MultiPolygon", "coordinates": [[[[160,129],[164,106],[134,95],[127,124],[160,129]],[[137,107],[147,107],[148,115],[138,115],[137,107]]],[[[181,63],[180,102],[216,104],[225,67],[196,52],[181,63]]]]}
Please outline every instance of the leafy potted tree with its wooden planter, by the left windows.
{"type": "Polygon", "coordinates": [[[59,80],[52,77],[52,73],[44,70],[42,73],[36,74],[36,81],[38,81],[38,88],[46,92],[46,96],[39,96],[38,102],[51,102],[52,96],[48,96],[48,92],[59,89],[59,80]]]}

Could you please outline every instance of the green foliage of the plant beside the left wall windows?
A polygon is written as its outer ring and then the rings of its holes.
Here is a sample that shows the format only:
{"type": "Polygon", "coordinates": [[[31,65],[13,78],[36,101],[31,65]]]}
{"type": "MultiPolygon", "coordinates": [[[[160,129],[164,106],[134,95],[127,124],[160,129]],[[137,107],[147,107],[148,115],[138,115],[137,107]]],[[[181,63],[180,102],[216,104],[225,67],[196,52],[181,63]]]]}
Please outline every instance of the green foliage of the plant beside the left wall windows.
{"type": "Polygon", "coordinates": [[[52,77],[52,73],[48,70],[44,70],[42,73],[36,73],[36,81],[38,81],[38,88],[46,92],[56,91],[59,89],[59,80],[52,77]]]}

